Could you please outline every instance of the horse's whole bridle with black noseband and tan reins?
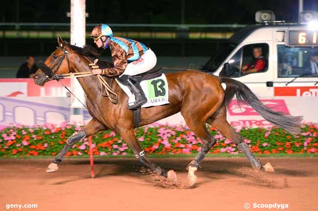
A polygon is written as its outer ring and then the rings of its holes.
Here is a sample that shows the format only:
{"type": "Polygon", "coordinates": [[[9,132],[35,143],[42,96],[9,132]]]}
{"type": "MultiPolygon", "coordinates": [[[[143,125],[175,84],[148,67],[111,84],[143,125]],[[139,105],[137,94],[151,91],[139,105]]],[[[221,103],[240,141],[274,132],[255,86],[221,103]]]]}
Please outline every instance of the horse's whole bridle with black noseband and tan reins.
{"type": "MultiPolygon", "coordinates": [[[[37,62],[37,66],[43,70],[45,72],[45,77],[48,80],[60,80],[60,79],[64,79],[64,78],[77,78],[77,77],[88,77],[88,76],[93,76],[93,73],[91,71],[87,71],[87,72],[80,72],[80,73],[71,73],[70,72],[70,65],[69,65],[69,59],[68,59],[68,51],[63,48],[63,47],[56,47],[59,50],[63,51],[63,55],[59,58],[59,60],[50,68],[48,67],[43,61],[39,61],[37,62]],[[55,74],[63,60],[66,58],[67,62],[68,62],[68,73],[67,74],[55,74]],[[55,69],[54,69],[55,68],[55,69]],[[54,69],[54,71],[52,70],[54,69]]],[[[118,102],[118,98],[117,98],[117,94],[114,92],[114,90],[112,89],[112,87],[107,83],[107,81],[101,76],[101,75],[96,75],[98,78],[98,81],[101,85],[101,93],[102,96],[107,96],[109,98],[109,100],[114,103],[117,104],[118,102]]],[[[78,99],[69,89],[68,87],[66,87],[63,83],[61,83],[67,90],[69,93],[71,93],[76,99],[78,99]]],[[[79,100],[79,99],[78,99],[79,100]]],[[[80,101],[80,100],[79,100],[80,101]]],[[[80,101],[81,102],[81,101],[80,101]]],[[[81,102],[82,103],[82,102],[81,102]]],[[[83,104],[83,103],[82,103],[83,104]]],[[[84,104],[83,104],[84,105],[84,104]]],[[[84,105],[84,107],[86,107],[84,105]]]]}

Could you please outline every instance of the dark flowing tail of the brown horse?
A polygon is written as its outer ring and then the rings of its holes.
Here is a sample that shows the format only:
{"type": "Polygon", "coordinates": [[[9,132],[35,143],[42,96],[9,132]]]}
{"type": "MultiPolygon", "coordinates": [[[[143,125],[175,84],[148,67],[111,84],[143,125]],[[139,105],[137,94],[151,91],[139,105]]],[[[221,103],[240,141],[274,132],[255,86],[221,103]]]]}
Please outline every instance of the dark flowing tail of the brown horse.
{"type": "Polygon", "coordinates": [[[302,116],[284,115],[280,112],[275,112],[266,107],[258,97],[252,93],[249,87],[240,81],[229,77],[219,77],[221,82],[226,83],[225,97],[223,103],[228,106],[231,99],[236,95],[239,103],[249,104],[257,113],[263,116],[267,121],[277,125],[278,127],[288,131],[291,134],[300,133],[300,123],[302,116]]]}

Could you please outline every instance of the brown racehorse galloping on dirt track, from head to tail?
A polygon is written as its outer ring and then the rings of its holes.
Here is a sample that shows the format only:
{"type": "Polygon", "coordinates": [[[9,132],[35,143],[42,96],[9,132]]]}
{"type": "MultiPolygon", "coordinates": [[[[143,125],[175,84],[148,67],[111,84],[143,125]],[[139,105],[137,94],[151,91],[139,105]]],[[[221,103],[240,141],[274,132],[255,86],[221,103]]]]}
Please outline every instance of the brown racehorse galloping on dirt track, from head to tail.
{"type": "MultiPolygon", "coordinates": [[[[97,57],[95,53],[68,44],[60,36],[57,38],[57,49],[45,60],[43,65],[33,76],[34,82],[44,86],[52,76],[68,73],[91,72],[90,63],[97,57]]],[[[106,62],[106,67],[113,64],[106,62]]],[[[262,104],[255,94],[242,82],[229,77],[218,77],[209,73],[196,70],[186,70],[165,74],[168,81],[169,104],[141,108],[140,121],[134,126],[133,111],[127,108],[128,96],[117,83],[111,83],[112,77],[104,76],[118,96],[117,104],[104,97],[100,91],[97,76],[77,78],[86,96],[86,104],[92,116],[91,121],[84,128],[68,137],[64,148],[56,155],[48,165],[46,172],[56,172],[58,164],[62,162],[66,153],[76,142],[92,134],[110,129],[119,134],[127,145],[132,149],[138,161],[149,167],[152,171],[169,180],[176,181],[176,173],[173,170],[166,172],[158,165],[151,162],[136,138],[134,128],[151,124],[162,118],[181,112],[186,125],[202,141],[202,148],[195,158],[187,165],[188,182],[195,184],[197,176],[195,172],[200,168],[206,153],[216,144],[209,134],[206,123],[219,130],[225,137],[231,140],[242,151],[256,171],[272,169],[262,165],[251,153],[244,138],[239,135],[227,121],[227,106],[231,99],[236,99],[249,104],[256,112],[274,125],[286,130],[291,134],[300,132],[299,125],[302,116],[285,115],[275,112],[262,104]],[[222,87],[226,84],[226,89],[222,87]]],[[[56,78],[56,77],[55,77],[56,78]]],[[[271,170],[272,171],[272,170],[271,170]]]]}

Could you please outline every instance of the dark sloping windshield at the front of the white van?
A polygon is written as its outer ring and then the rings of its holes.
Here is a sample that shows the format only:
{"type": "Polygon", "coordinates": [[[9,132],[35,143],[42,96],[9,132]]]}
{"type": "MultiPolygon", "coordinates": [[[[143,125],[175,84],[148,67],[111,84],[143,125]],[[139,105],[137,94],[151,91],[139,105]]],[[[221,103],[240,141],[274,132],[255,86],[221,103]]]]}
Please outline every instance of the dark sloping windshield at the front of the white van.
{"type": "Polygon", "coordinates": [[[226,46],[224,46],[216,53],[214,57],[210,58],[210,60],[206,62],[206,64],[202,67],[202,70],[212,73],[215,72],[222,64],[222,62],[225,61],[228,55],[232,53],[235,47],[236,45],[234,44],[227,44],[226,46]]]}

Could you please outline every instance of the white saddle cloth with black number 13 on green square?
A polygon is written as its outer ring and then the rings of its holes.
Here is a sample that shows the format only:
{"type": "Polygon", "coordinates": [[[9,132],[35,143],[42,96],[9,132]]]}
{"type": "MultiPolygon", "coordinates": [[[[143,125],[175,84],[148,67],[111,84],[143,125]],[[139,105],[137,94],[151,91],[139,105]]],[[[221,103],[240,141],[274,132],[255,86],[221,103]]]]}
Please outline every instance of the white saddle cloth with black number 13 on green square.
{"type": "MultiPolygon", "coordinates": [[[[128,104],[134,103],[136,99],[135,96],[129,90],[129,88],[120,83],[117,79],[116,82],[129,97],[128,104]]],[[[168,82],[164,74],[156,78],[142,80],[140,82],[140,86],[148,100],[145,104],[141,106],[141,108],[164,105],[169,103],[168,82]]]]}

